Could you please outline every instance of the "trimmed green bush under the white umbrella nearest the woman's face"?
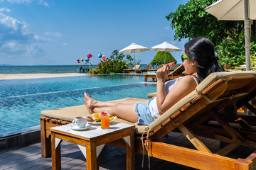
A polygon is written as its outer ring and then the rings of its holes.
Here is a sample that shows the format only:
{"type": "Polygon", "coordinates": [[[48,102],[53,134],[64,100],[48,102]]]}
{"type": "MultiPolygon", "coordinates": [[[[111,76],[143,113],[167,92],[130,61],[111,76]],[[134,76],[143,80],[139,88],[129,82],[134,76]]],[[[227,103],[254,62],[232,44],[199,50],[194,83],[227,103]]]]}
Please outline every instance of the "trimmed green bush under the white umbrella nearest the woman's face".
{"type": "MultiPolygon", "coordinates": [[[[154,59],[150,64],[164,64],[164,53],[165,52],[157,52],[154,59]]],[[[166,63],[169,62],[177,62],[170,52],[166,52],[166,63]]]]}

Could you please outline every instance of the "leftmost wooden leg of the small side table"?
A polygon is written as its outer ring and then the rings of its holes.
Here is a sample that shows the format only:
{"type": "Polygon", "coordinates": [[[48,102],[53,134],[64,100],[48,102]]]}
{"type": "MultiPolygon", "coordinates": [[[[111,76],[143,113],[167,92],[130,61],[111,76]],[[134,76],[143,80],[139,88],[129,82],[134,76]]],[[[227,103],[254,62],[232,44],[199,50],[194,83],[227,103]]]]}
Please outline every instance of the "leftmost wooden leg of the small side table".
{"type": "Polygon", "coordinates": [[[51,136],[52,168],[53,170],[61,169],[60,144],[55,149],[55,134],[52,133],[50,136],[51,136]]]}

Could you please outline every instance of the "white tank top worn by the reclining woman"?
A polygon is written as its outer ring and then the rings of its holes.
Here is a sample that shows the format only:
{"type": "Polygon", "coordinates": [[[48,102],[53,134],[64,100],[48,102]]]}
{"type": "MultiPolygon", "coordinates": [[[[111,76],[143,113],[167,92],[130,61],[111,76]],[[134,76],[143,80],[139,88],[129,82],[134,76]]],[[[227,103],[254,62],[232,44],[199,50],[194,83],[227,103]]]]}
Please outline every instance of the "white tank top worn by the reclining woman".
{"type": "MultiPolygon", "coordinates": [[[[191,76],[193,77],[193,76],[191,76]]],[[[169,91],[171,90],[171,88],[177,83],[178,79],[181,79],[182,77],[178,77],[177,79],[172,79],[170,81],[167,81],[164,84],[164,91],[165,91],[165,95],[167,96],[167,94],[169,93],[169,91]]],[[[195,77],[193,77],[193,79],[196,81],[196,86],[198,86],[198,81],[196,80],[195,77]]],[[[157,108],[157,104],[156,104],[156,97],[154,97],[150,103],[149,103],[149,111],[152,115],[152,117],[154,119],[159,118],[160,114],[157,108]]]]}

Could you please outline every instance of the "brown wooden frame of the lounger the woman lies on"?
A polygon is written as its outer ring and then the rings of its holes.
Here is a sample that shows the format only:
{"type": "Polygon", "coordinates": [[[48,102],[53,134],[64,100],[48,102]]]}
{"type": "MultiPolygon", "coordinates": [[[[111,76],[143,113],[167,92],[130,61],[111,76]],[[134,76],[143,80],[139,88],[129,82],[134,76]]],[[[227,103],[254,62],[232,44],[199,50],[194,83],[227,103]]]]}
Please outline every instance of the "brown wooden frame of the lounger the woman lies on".
{"type": "MultiPolygon", "coordinates": [[[[149,154],[150,157],[183,164],[196,169],[256,169],[256,151],[246,159],[231,159],[226,154],[240,145],[256,148],[256,116],[238,115],[237,108],[247,106],[256,96],[255,76],[241,76],[218,79],[201,94],[183,105],[161,125],[136,137],[135,152],[149,154]],[[158,142],[169,132],[180,130],[196,149],[158,142]],[[212,153],[198,136],[209,137],[230,144],[212,153]]],[[[252,109],[256,114],[256,109],[252,109]]],[[[69,123],[41,117],[42,156],[50,157],[49,128],[69,123]]],[[[150,127],[149,127],[150,128],[150,127]]],[[[108,145],[124,148],[124,141],[118,140],[108,145]]]]}

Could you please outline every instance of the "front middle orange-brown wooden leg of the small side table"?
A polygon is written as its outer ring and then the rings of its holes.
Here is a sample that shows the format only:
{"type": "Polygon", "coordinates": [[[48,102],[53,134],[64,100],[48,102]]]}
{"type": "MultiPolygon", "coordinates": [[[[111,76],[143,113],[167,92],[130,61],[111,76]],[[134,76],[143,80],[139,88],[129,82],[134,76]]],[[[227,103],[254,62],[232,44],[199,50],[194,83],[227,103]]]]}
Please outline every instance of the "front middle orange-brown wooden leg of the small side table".
{"type": "Polygon", "coordinates": [[[96,143],[95,140],[86,141],[86,165],[88,170],[99,169],[97,166],[97,154],[96,154],[96,143]]]}

